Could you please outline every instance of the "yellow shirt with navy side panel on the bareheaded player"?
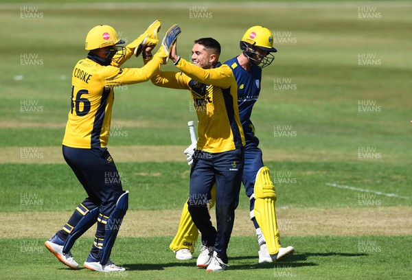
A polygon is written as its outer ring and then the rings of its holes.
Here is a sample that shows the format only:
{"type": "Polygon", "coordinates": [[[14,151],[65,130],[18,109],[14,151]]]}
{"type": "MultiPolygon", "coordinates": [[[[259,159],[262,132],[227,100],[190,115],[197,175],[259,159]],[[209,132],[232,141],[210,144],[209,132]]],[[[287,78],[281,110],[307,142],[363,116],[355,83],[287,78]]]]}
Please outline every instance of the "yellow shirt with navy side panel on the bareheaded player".
{"type": "Polygon", "coordinates": [[[157,86],[188,89],[192,93],[198,117],[196,150],[217,153],[244,146],[238,86],[231,69],[220,63],[213,69],[202,69],[183,58],[176,67],[181,72],[159,72],[151,80],[157,86]]]}

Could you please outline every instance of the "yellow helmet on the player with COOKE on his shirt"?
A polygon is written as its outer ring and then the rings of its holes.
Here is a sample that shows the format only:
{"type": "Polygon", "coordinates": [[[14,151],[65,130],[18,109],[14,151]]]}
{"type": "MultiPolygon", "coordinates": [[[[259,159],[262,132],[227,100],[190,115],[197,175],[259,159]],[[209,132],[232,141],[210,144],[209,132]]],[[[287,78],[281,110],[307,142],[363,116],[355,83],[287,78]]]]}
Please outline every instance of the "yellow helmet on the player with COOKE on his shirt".
{"type": "Polygon", "coordinates": [[[87,34],[84,49],[91,51],[92,49],[100,49],[117,44],[124,44],[124,40],[119,39],[116,30],[109,25],[98,25],[93,27],[87,34]]]}

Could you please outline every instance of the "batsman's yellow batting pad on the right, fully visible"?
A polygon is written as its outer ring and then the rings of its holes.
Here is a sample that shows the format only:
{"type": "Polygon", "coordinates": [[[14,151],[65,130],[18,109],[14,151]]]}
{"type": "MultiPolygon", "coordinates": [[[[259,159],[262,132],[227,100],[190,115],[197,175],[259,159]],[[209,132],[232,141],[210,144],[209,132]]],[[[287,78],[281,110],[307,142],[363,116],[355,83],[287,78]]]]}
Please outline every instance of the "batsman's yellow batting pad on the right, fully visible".
{"type": "Polygon", "coordinates": [[[275,255],[279,251],[279,230],[277,229],[275,202],[275,186],[272,183],[268,167],[262,167],[256,174],[255,180],[255,214],[262,230],[268,252],[275,255]]]}

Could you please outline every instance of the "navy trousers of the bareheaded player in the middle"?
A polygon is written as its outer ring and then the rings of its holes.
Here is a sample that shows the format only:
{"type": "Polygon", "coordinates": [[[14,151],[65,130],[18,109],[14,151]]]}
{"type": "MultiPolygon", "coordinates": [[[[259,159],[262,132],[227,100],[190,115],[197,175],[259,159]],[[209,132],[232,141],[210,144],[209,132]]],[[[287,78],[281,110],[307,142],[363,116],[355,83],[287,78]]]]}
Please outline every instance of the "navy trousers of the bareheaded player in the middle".
{"type": "Polygon", "coordinates": [[[190,172],[188,208],[194,224],[202,233],[204,246],[214,246],[218,256],[227,264],[235,209],[239,204],[240,185],[244,164],[244,148],[209,153],[194,152],[190,172]],[[216,183],[216,227],[211,224],[207,202],[216,183]]]}

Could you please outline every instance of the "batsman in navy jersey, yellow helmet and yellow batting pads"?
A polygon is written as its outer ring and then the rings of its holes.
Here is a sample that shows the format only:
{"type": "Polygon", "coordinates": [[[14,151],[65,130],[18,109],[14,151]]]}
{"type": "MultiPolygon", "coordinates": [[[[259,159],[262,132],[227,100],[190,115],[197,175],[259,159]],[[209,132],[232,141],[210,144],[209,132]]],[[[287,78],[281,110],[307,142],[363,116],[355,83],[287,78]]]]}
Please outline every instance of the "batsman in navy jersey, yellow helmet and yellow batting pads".
{"type": "MultiPolygon", "coordinates": [[[[250,119],[253,105],[260,94],[262,68],[271,64],[274,59],[271,53],[277,51],[273,47],[272,32],[262,26],[249,28],[240,40],[240,49],[242,54],[224,65],[230,67],[238,84],[239,115],[246,139],[242,183],[250,200],[250,218],[260,245],[259,262],[280,261],[293,255],[295,249],[292,246],[284,248],[279,242],[275,187],[268,167],[263,164],[262,150],[258,148],[259,139],[255,136],[255,127],[250,119]]],[[[189,164],[192,164],[195,148],[196,145],[192,144],[185,150],[189,164]]],[[[211,206],[214,205],[214,191],[212,189],[211,206]]],[[[170,244],[177,259],[192,259],[197,237],[198,229],[185,204],[178,232],[170,244]]]]}

